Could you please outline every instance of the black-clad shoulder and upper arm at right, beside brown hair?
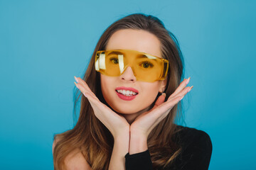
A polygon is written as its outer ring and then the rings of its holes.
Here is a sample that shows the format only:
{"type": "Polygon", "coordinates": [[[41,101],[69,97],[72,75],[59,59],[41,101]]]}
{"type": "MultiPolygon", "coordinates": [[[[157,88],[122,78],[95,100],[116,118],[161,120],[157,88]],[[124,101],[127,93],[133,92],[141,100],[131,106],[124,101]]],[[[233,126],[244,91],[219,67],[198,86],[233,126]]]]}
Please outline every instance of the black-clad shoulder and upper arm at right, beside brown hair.
{"type": "Polygon", "coordinates": [[[181,154],[172,166],[178,169],[208,169],[213,150],[208,133],[181,125],[176,128],[176,142],[181,145],[181,154]]]}

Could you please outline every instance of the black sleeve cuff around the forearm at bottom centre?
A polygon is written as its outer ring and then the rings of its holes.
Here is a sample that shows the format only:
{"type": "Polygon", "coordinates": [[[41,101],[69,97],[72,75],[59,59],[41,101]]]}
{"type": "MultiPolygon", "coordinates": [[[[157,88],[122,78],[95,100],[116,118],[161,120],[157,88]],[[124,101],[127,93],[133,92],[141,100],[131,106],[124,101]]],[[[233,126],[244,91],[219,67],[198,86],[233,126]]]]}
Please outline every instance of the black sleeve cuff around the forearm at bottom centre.
{"type": "Polygon", "coordinates": [[[149,154],[149,149],[137,154],[125,155],[125,169],[126,170],[152,170],[152,162],[149,154]]]}

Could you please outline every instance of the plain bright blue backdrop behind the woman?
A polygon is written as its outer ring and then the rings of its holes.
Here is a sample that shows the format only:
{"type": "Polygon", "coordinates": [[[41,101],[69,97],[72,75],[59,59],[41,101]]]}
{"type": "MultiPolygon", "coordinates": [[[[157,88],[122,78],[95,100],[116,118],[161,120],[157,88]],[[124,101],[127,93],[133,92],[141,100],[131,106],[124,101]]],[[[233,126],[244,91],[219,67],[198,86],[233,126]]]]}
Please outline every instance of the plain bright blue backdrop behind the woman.
{"type": "Polygon", "coordinates": [[[73,128],[73,76],[103,31],[158,17],[181,45],[188,127],[213,142],[209,169],[256,169],[255,1],[0,1],[0,169],[53,169],[53,134],[73,128]]]}

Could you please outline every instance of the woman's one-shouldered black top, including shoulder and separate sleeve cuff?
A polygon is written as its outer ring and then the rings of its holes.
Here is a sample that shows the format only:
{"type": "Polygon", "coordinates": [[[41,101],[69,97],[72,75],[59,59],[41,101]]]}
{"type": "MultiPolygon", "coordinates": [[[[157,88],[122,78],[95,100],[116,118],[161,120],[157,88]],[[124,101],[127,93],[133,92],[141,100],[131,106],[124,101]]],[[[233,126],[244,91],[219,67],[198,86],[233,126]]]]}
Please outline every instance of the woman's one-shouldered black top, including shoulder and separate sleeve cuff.
{"type": "MultiPolygon", "coordinates": [[[[209,135],[202,130],[188,128],[178,125],[181,128],[178,132],[176,142],[181,145],[182,151],[174,162],[168,164],[164,170],[203,170],[208,169],[210,157],[213,150],[209,135]]],[[[151,170],[152,162],[149,150],[137,154],[125,155],[126,170],[151,170]]]]}

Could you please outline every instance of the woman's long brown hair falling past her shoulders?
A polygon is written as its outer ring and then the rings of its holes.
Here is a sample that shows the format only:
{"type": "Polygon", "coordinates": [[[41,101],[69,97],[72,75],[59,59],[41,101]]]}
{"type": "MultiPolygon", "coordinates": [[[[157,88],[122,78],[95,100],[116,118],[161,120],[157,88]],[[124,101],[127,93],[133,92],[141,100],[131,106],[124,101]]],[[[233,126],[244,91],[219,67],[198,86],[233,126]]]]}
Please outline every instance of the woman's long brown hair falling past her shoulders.
{"type": "MultiPolygon", "coordinates": [[[[156,35],[161,42],[161,56],[169,60],[169,72],[166,84],[166,98],[168,98],[183,78],[183,57],[174,35],[166,30],[164,24],[154,16],[134,13],[112,23],[100,37],[92,54],[90,63],[82,79],[88,84],[97,98],[106,103],[100,86],[100,73],[95,71],[95,53],[105,50],[110,36],[121,29],[146,30],[156,35]]],[[[75,93],[74,111],[80,100],[80,114],[75,127],[54,136],[59,142],[53,153],[54,169],[65,169],[64,160],[70,152],[79,149],[92,169],[108,169],[114,145],[114,139],[109,130],[98,120],[89,101],[79,90],[75,93]],[[81,98],[80,98],[81,97],[81,98]]],[[[155,101],[154,101],[155,102],[155,101]]],[[[151,104],[154,106],[154,103],[151,104]]],[[[75,113],[75,112],[74,112],[75,113]]],[[[179,102],[171,109],[169,115],[162,120],[148,137],[148,148],[154,169],[160,169],[173,161],[181,152],[181,146],[174,142],[176,133],[177,113],[181,114],[179,102]]],[[[179,115],[180,116],[180,115],[179,115]]]]}

